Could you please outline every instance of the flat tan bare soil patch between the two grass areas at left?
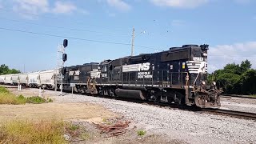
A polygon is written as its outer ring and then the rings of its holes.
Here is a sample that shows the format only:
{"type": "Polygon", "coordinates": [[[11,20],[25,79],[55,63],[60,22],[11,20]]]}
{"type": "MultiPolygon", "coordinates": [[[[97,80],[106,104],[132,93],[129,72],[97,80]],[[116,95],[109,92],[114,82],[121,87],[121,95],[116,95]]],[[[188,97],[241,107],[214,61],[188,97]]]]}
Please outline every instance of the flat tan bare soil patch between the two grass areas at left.
{"type": "Polygon", "coordinates": [[[117,117],[117,114],[102,106],[90,103],[44,103],[26,105],[0,105],[0,121],[4,120],[49,120],[85,119],[99,121],[102,118],[117,117]]]}

